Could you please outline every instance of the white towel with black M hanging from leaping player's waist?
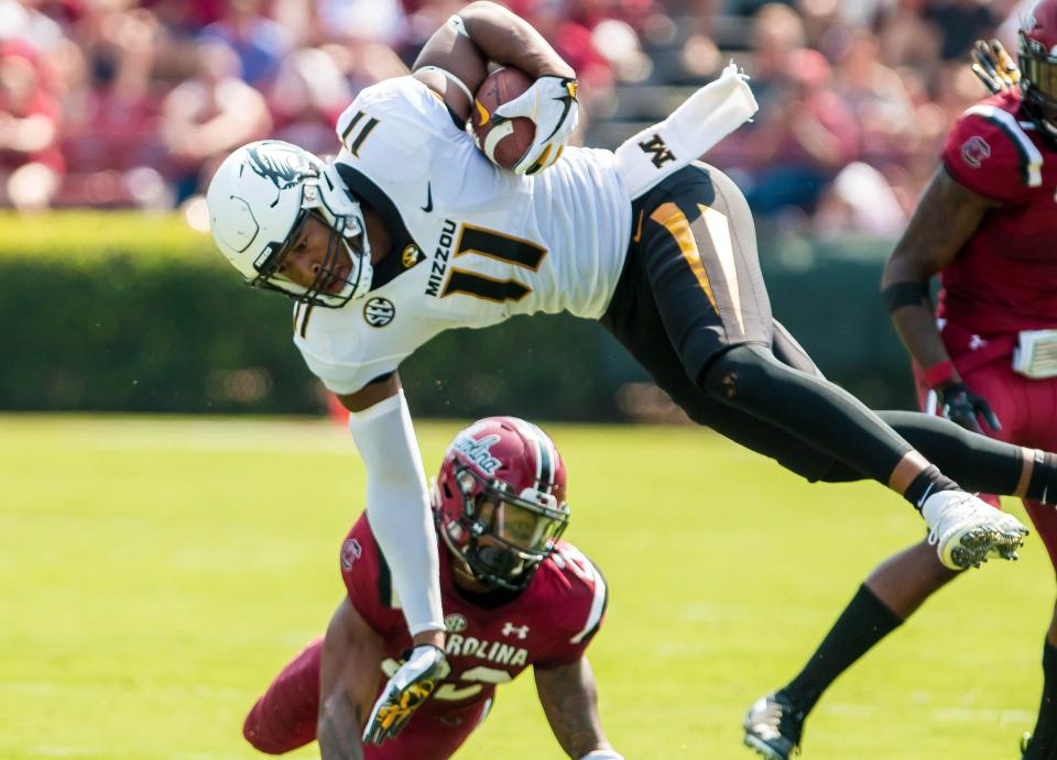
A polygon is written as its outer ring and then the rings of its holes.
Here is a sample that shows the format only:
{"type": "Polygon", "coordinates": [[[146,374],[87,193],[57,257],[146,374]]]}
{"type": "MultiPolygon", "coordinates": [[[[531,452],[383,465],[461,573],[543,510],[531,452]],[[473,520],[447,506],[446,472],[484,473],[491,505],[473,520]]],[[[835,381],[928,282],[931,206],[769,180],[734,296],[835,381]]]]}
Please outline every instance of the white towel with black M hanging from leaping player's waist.
{"type": "Polygon", "coordinates": [[[729,64],[719,79],[687,98],[667,119],[617,148],[617,167],[632,199],[693,161],[759,110],[749,77],[729,64]]]}

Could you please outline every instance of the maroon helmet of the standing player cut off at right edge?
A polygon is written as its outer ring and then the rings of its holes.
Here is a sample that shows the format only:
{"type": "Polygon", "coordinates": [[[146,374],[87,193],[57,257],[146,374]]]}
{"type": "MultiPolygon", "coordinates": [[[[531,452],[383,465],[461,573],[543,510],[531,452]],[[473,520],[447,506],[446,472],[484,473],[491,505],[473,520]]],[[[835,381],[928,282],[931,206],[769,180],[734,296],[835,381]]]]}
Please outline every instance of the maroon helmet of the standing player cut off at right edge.
{"type": "Polygon", "coordinates": [[[1057,0],[1039,0],[1021,21],[1017,58],[1025,109],[1057,139],[1057,0]]]}

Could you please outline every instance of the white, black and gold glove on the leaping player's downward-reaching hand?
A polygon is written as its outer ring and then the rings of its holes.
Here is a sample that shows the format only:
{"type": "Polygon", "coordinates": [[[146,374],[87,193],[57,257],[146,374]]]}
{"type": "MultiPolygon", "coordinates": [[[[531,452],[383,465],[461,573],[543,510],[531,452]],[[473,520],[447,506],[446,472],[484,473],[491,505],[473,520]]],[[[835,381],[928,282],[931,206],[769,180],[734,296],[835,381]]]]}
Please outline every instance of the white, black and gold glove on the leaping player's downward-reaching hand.
{"type": "Polygon", "coordinates": [[[374,703],[363,728],[364,744],[380,745],[400,734],[437,687],[444,665],[444,652],[439,647],[432,643],[415,647],[374,703]]]}

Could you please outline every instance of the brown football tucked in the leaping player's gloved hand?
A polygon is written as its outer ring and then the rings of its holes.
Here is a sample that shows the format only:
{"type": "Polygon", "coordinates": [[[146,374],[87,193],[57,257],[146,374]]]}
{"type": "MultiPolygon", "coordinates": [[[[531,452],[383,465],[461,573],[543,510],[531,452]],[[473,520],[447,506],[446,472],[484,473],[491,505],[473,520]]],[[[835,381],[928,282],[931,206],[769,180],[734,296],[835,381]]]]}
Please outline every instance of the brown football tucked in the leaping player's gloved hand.
{"type": "Polygon", "coordinates": [[[497,166],[512,169],[532,146],[536,125],[519,117],[495,124],[492,113],[532,87],[532,77],[517,68],[497,68],[488,75],[473,99],[473,140],[481,152],[497,166]]]}

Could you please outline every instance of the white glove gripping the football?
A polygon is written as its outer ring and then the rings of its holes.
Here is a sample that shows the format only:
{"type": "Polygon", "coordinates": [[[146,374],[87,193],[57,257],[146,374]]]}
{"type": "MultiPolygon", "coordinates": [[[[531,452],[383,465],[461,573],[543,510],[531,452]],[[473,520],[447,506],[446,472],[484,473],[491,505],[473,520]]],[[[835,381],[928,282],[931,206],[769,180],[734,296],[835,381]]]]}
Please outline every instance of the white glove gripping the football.
{"type": "Polygon", "coordinates": [[[503,103],[492,120],[525,117],[536,125],[536,136],[517,165],[515,174],[536,174],[558,159],[562,148],[576,129],[579,106],[576,102],[576,79],[547,75],[540,77],[520,96],[503,103]]]}

